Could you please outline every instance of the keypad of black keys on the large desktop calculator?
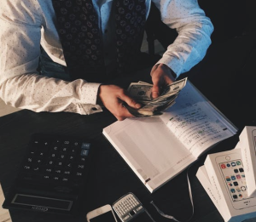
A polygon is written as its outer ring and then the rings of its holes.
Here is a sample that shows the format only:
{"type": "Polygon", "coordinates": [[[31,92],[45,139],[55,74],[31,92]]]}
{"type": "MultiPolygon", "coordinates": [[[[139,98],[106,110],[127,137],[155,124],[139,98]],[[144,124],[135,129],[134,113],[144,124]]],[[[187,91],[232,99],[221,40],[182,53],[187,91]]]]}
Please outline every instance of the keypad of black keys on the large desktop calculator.
{"type": "Polygon", "coordinates": [[[35,136],[29,144],[20,179],[40,185],[77,186],[84,178],[89,155],[88,142],[35,136]]]}

